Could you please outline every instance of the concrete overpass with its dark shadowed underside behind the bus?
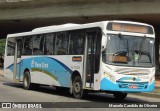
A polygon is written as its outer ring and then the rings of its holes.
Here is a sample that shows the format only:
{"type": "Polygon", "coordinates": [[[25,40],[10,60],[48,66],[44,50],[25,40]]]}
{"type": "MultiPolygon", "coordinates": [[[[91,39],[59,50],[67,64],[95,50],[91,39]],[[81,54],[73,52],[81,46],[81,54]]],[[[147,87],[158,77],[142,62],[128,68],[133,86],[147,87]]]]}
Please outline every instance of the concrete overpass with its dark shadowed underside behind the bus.
{"type": "Polygon", "coordinates": [[[110,19],[140,21],[156,28],[158,69],[160,0],[0,0],[0,38],[35,27],[110,19]]]}

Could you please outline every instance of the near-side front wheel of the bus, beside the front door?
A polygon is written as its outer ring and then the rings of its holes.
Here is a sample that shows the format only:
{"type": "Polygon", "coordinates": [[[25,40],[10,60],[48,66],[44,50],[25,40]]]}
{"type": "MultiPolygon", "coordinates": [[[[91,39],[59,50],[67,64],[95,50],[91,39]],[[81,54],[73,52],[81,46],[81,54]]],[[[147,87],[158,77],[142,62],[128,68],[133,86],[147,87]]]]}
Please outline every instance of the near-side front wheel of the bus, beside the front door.
{"type": "Polygon", "coordinates": [[[73,83],[72,83],[72,87],[73,87],[73,96],[77,99],[81,99],[85,96],[85,92],[83,90],[83,86],[82,86],[82,80],[80,76],[76,76],[73,79],[73,83]]]}

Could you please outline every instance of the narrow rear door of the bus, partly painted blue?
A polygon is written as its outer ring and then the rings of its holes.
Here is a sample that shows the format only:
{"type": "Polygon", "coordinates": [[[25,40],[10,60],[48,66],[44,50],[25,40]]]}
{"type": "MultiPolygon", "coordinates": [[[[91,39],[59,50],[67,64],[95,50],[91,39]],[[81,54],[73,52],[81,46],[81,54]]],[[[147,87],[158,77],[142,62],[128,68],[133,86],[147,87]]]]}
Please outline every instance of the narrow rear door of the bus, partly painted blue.
{"type": "Polygon", "coordinates": [[[21,73],[21,51],[22,51],[22,39],[16,40],[15,55],[14,55],[14,81],[20,80],[21,73]]]}

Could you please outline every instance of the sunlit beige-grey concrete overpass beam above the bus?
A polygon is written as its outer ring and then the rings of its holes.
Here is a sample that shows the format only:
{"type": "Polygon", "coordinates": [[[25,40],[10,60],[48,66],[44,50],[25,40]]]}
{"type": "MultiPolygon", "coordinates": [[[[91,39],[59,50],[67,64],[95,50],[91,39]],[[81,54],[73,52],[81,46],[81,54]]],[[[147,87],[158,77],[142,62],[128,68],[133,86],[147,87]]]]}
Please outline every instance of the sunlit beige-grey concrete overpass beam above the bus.
{"type": "MultiPolygon", "coordinates": [[[[19,0],[18,0],[19,1],[19,0]]],[[[0,20],[92,17],[92,16],[129,16],[156,15],[160,17],[158,0],[31,0],[0,4],[0,20]],[[32,2],[31,2],[32,1],[32,2]]],[[[143,18],[146,20],[146,18],[143,18]]],[[[154,22],[154,21],[153,21],[154,22]]]]}

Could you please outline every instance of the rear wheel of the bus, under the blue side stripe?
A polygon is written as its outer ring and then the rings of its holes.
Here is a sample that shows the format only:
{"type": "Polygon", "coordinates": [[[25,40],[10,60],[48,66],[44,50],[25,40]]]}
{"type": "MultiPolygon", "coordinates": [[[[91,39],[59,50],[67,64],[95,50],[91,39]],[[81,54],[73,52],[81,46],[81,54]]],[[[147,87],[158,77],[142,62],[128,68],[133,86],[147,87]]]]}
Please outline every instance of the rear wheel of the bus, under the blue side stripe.
{"type": "Polygon", "coordinates": [[[26,71],[24,73],[24,77],[23,77],[23,88],[26,90],[31,89],[31,78],[30,78],[30,74],[28,71],[26,71]]]}

